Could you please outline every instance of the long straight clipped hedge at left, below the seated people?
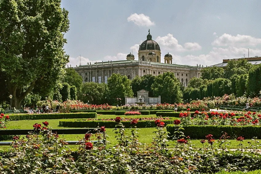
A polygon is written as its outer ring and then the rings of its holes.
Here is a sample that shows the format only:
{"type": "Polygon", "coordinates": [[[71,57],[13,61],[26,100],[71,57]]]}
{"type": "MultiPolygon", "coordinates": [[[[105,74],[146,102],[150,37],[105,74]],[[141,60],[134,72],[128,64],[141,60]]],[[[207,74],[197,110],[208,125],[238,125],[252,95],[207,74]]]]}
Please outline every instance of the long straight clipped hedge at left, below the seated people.
{"type": "Polygon", "coordinates": [[[90,113],[57,113],[57,114],[19,114],[9,115],[10,121],[34,120],[34,119],[74,119],[74,118],[96,118],[96,112],[90,113]]]}

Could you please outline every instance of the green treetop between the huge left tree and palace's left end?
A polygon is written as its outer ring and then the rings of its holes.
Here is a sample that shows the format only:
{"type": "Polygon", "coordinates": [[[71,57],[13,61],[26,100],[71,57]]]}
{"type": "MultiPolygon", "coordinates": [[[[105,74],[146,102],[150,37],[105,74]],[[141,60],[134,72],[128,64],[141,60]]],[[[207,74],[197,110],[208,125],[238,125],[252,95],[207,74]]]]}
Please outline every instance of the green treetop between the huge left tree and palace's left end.
{"type": "Polygon", "coordinates": [[[75,86],[79,91],[81,90],[82,77],[73,68],[65,69],[62,82],[68,83],[70,86],[75,86]]]}

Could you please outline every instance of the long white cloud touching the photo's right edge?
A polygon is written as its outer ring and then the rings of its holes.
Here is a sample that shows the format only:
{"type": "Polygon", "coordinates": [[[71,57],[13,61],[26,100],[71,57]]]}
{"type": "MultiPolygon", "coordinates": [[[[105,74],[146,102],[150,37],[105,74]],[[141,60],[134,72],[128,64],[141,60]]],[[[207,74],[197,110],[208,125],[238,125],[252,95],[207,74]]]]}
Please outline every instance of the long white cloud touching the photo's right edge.
{"type": "Polygon", "coordinates": [[[212,45],[214,46],[233,46],[233,47],[246,47],[256,46],[261,44],[261,38],[254,38],[249,35],[232,36],[231,34],[224,33],[222,36],[216,38],[212,45]]]}

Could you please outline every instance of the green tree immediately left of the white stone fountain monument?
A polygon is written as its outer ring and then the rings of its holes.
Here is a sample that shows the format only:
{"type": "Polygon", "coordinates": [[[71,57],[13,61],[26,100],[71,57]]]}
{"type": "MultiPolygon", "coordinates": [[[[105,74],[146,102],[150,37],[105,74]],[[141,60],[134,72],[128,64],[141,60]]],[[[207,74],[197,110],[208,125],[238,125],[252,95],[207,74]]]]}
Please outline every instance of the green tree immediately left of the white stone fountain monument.
{"type": "Polygon", "coordinates": [[[131,80],[127,76],[113,73],[108,79],[108,93],[111,103],[124,104],[125,96],[133,96],[131,80]]]}

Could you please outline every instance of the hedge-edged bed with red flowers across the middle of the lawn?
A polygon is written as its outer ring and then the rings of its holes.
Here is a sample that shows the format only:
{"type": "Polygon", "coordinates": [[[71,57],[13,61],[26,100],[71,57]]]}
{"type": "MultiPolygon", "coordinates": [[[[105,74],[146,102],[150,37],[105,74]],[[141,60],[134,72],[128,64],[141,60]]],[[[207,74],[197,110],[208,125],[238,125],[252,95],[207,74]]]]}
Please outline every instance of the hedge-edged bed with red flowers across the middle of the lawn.
{"type": "MultiPolygon", "coordinates": [[[[121,118],[121,117],[120,117],[121,118]]],[[[145,128],[145,127],[155,127],[154,121],[156,119],[162,120],[166,125],[173,123],[173,119],[169,118],[142,118],[137,119],[140,120],[136,125],[138,128],[145,128]]],[[[129,128],[132,125],[130,124],[131,118],[122,119],[122,124],[125,128],[129,128]]],[[[86,119],[62,119],[59,121],[59,126],[61,127],[89,127],[95,128],[99,125],[104,125],[107,128],[113,128],[117,122],[115,119],[98,119],[98,120],[86,120],[86,119]]]]}

